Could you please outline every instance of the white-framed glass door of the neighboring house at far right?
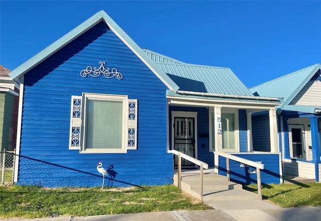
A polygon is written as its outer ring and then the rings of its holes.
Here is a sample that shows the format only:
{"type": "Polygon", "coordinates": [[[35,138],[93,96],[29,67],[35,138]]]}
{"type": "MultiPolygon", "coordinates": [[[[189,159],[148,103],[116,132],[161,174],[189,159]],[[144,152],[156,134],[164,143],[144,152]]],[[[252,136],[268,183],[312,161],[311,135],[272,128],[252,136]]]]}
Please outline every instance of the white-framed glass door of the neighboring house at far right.
{"type": "Polygon", "coordinates": [[[303,125],[289,125],[289,147],[292,158],[305,159],[303,125]]]}

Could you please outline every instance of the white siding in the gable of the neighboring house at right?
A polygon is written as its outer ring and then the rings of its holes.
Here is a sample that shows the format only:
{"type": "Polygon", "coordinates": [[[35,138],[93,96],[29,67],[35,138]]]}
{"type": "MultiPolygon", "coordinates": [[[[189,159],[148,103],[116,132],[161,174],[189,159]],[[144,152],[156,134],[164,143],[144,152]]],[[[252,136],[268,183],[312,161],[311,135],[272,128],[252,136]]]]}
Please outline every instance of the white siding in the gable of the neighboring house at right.
{"type": "Polygon", "coordinates": [[[307,82],[290,104],[321,106],[321,81],[307,82]]]}

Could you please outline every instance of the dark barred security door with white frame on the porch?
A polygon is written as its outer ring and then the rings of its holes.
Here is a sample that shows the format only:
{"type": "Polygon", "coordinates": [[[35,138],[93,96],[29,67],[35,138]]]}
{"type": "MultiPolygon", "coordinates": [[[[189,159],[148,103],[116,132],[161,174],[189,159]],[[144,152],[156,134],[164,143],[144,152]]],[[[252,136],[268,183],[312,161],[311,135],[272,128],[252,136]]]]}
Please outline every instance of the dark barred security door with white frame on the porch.
{"type": "MultiPolygon", "coordinates": [[[[172,148],[188,156],[196,158],[196,121],[195,112],[172,112],[173,132],[172,148]]],[[[178,165],[178,157],[174,159],[175,166],[178,165]]],[[[194,167],[195,164],[182,158],[182,167],[194,167]]]]}

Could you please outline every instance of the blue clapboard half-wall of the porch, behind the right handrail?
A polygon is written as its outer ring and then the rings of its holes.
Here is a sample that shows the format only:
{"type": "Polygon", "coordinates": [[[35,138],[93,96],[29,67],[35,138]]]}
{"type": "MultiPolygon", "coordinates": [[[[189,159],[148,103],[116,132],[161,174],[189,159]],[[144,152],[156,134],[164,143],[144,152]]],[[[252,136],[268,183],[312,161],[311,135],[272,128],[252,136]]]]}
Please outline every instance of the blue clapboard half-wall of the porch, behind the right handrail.
{"type": "MultiPolygon", "coordinates": [[[[262,161],[264,169],[261,171],[261,182],[264,184],[280,183],[280,161],[279,154],[233,154],[235,156],[252,160],[254,162],[262,161]]],[[[241,167],[239,162],[230,160],[231,181],[250,184],[257,183],[256,173],[248,173],[248,169],[253,167],[241,167]]],[[[219,157],[219,174],[226,176],[226,160],[219,157]]]]}

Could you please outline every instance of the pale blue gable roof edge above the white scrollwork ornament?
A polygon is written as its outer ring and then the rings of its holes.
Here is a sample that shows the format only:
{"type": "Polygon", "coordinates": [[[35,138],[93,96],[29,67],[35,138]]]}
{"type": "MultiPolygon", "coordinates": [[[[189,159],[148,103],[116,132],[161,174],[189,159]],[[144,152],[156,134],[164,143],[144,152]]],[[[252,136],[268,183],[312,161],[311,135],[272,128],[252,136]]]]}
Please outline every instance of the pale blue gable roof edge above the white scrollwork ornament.
{"type": "Polygon", "coordinates": [[[94,16],[83,22],[81,25],[49,45],[47,48],[27,60],[25,63],[14,69],[9,76],[13,79],[19,79],[32,68],[43,62],[55,52],[69,44],[71,41],[104,21],[106,25],[140,58],[148,68],[171,90],[177,91],[179,86],[162,71],[143,51],[142,49],[104,12],[100,11],[94,16]]]}

